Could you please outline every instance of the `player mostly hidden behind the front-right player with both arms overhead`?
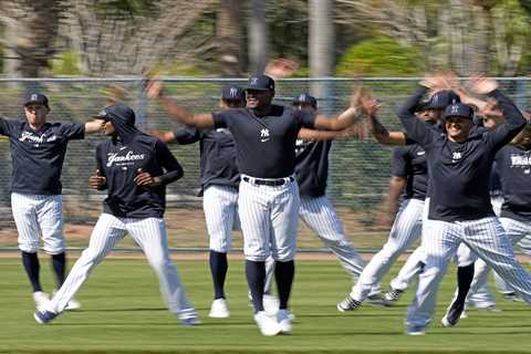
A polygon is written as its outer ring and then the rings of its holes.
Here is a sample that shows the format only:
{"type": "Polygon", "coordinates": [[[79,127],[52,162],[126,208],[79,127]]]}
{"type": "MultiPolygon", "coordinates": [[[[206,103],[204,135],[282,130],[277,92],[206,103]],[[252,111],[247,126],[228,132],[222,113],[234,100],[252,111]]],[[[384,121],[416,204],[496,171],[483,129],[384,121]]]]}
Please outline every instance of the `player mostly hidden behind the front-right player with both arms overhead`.
{"type": "MultiPolygon", "coordinates": [[[[423,107],[416,107],[416,118],[427,128],[441,133],[441,112],[454,102],[460,102],[459,96],[450,90],[439,91],[431,96],[423,107]]],[[[387,273],[398,256],[404,253],[409,246],[420,236],[423,216],[426,216],[425,198],[427,191],[427,165],[426,152],[421,146],[409,139],[402,132],[388,132],[376,118],[377,102],[364,95],[362,98],[363,110],[367,113],[369,129],[381,144],[406,145],[395,149],[393,158],[393,176],[389,181],[389,216],[396,214],[398,198],[406,190],[398,214],[391,229],[389,239],[382,250],[377,252],[363,270],[357,283],[352,288],[348,295],[337,304],[341,312],[353,311],[361,306],[367,298],[369,289],[374,287],[387,273]]],[[[408,275],[413,277],[423,267],[421,250],[414,252],[406,262],[408,275]]],[[[460,292],[466,296],[469,284],[473,277],[473,259],[466,263],[459,263],[458,283],[460,292]],[[464,287],[461,284],[468,284],[464,287]]],[[[405,284],[407,287],[407,283],[405,284]]],[[[385,294],[387,303],[397,301],[405,287],[392,284],[392,290],[385,294]],[[395,288],[396,287],[396,288],[395,288]]],[[[465,300],[465,299],[464,299],[465,300]]]]}

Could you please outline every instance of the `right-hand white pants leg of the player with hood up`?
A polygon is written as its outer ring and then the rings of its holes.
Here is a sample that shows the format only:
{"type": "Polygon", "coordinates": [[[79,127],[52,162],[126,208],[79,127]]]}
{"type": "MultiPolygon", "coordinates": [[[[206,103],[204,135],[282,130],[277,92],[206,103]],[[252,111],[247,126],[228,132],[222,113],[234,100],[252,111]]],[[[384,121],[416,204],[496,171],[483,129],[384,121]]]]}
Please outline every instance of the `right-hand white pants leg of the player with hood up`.
{"type": "Polygon", "coordinates": [[[170,312],[181,314],[194,311],[186,296],[177,268],[171,262],[162,218],[125,219],[127,232],[144,251],[149,266],[157,274],[160,293],[170,312]]]}

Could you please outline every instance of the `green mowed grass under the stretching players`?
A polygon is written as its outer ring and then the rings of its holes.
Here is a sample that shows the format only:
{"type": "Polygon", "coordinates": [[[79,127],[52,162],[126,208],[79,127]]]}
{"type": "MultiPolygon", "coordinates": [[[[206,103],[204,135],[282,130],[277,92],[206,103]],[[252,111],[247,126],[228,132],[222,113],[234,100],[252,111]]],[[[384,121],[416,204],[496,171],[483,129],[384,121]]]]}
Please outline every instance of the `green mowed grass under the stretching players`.
{"type": "MultiPolygon", "coordinates": [[[[439,292],[434,323],[425,336],[403,334],[410,292],[393,308],[335,309],[350,278],[335,261],[298,261],[292,335],[263,337],[251,317],[243,263],[231,261],[228,320],[209,319],[211,284],[206,261],[176,263],[202,324],[183,327],[165,309],[157,280],[143,259],[107,259],[80,290],[81,311],[49,325],[33,320],[29,283],[19,259],[0,259],[0,352],[10,353],[531,353],[531,312],[524,303],[498,299],[500,313],[470,311],[454,329],[439,324],[451,298],[455,269],[439,292]]],[[[45,289],[50,264],[42,260],[45,289]]],[[[398,270],[393,268],[392,274],[398,270]]],[[[384,285],[389,277],[386,277],[384,285]]]]}

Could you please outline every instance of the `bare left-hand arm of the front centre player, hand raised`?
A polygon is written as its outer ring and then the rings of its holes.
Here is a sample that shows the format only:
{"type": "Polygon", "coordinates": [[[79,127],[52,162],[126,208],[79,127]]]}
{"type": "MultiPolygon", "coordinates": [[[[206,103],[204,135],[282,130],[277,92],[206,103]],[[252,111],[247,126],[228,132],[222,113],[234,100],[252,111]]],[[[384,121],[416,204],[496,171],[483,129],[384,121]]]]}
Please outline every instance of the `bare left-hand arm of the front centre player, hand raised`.
{"type": "Polygon", "coordinates": [[[152,81],[148,83],[147,96],[149,98],[159,98],[171,118],[179,123],[191,125],[200,129],[214,127],[212,114],[194,114],[189,110],[178,105],[174,100],[164,96],[163,84],[158,81],[152,81]]]}

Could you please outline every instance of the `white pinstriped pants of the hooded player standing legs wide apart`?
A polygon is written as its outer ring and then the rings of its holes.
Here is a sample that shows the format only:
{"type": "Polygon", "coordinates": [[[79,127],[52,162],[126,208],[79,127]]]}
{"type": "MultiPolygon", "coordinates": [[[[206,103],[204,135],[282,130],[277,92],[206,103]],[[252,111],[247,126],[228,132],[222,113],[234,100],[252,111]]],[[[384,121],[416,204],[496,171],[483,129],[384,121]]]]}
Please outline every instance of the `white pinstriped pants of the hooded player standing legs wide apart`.
{"type": "Polygon", "coordinates": [[[162,218],[117,218],[102,214],[91,235],[88,247],[81,253],[61,289],[55,293],[50,310],[60,313],[83,285],[90,273],[113,247],[128,233],[144,251],[149,266],[158,277],[160,292],[170,312],[194,311],[176,267],[169,258],[166,225],[162,218]]]}

